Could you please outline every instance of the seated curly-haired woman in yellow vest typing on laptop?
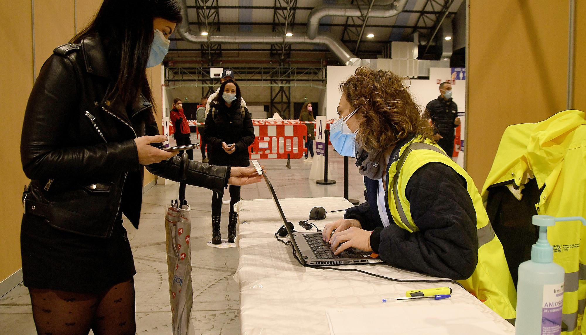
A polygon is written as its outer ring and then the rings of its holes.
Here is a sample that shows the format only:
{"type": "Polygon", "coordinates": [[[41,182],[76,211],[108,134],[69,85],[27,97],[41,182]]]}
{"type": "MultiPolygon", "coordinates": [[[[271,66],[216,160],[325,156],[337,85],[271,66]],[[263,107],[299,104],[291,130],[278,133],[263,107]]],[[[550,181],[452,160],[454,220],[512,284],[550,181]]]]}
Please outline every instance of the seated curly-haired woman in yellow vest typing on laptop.
{"type": "Polygon", "coordinates": [[[367,202],[326,224],[323,239],[335,254],[355,247],[461,281],[501,316],[515,317],[515,288],[478,190],[433,141],[403,80],[360,67],[340,85],[330,139],[340,155],[357,159],[367,202]]]}

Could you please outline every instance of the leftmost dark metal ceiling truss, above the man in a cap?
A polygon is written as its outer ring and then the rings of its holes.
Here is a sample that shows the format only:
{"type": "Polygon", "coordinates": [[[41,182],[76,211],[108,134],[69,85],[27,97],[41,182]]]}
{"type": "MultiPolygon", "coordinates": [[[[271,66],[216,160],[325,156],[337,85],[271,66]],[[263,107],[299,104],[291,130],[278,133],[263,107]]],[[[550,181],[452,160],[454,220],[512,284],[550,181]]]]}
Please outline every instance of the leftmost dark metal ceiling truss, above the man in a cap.
{"type": "MultiPolygon", "coordinates": [[[[207,32],[211,34],[213,32],[220,31],[220,11],[218,6],[218,0],[195,0],[196,13],[197,13],[197,26],[200,32],[207,32]]],[[[209,36],[209,35],[208,35],[209,36]]],[[[222,45],[212,44],[207,39],[205,45],[201,45],[202,58],[207,59],[207,65],[213,66],[214,61],[222,56],[222,45]]]]}

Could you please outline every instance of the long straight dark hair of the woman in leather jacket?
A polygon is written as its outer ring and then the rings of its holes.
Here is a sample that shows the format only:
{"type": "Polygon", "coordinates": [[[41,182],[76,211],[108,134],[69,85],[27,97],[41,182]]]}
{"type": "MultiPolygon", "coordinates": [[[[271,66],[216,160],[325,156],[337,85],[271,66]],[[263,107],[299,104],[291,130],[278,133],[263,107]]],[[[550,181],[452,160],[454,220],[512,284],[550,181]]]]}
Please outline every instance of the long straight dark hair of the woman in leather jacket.
{"type": "Polygon", "coordinates": [[[154,18],[179,23],[181,5],[177,0],[104,0],[92,22],[71,39],[80,43],[90,35],[101,37],[124,104],[142,93],[154,105],[146,73],[154,18]]]}

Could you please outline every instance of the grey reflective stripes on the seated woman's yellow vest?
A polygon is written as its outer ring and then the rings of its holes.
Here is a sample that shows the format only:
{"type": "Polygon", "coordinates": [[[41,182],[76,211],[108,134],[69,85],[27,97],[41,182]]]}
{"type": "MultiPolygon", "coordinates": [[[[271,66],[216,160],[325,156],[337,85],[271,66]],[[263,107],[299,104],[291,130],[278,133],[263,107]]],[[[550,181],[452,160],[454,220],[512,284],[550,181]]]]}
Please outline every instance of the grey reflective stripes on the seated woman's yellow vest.
{"type": "MultiPolygon", "coordinates": [[[[401,217],[401,222],[403,222],[403,224],[406,225],[407,227],[411,228],[411,230],[414,232],[419,231],[419,228],[417,228],[416,225],[412,224],[407,219],[407,216],[405,214],[405,210],[403,209],[403,206],[401,205],[401,201],[399,198],[399,190],[398,190],[398,176],[401,172],[401,167],[403,167],[405,160],[407,160],[407,156],[409,155],[409,153],[411,153],[412,151],[415,151],[415,150],[425,150],[425,149],[441,153],[444,156],[448,156],[440,148],[437,148],[437,146],[433,146],[429,143],[424,143],[424,142],[413,142],[409,146],[407,146],[407,148],[405,148],[405,150],[403,151],[403,155],[401,155],[401,158],[399,158],[399,160],[397,162],[397,172],[395,172],[395,175],[393,176],[393,194],[394,194],[395,206],[397,206],[397,211],[399,213],[399,216],[401,217]]],[[[495,231],[492,229],[492,224],[490,224],[490,221],[488,221],[488,223],[484,227],[476,230],[476,234],[478,235],[478,248],[482,247],[486,243],[492,241],[493,238],[495,238],[495,231]]],[[[585,271],[586,271],[586,269],[585,269],[585,271]]],[[[577,283],[577,281],[576,281],[576,283],[577,283]]]]}

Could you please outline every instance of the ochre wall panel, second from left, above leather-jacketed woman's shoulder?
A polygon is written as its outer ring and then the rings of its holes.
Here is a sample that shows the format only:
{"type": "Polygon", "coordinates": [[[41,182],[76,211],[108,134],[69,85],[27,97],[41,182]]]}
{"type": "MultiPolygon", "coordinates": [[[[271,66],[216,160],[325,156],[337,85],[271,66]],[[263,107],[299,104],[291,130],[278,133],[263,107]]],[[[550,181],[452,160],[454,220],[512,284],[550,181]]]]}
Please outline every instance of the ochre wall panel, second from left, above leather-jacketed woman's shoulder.
{"type": "Polygon", "coordinates": [[[36,76],[57,46],[75,35],[73,0],[35,0],[36,76]]]}

